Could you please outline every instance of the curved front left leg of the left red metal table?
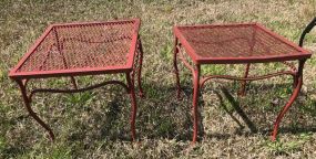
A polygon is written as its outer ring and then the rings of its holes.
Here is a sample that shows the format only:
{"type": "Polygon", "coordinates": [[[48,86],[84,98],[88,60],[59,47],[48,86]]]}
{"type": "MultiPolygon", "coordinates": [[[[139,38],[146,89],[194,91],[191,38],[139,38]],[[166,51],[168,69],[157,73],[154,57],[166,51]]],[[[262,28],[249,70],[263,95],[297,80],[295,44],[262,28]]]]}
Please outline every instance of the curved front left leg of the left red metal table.
{"type": "Polygon", "coordinates": [[[51,140],[54,140],[54,135],[53,135],[52,129],[42,119],[40,119],[40,117],[38,117],[37,114],[32,110],[31,102],[27,95],[27,88],[26,88],[27,86],[23,84],[22,81],[17,80],[17,83],[20,86],[22,97],[24,100],[24,105],[26,105],[30,116],[32,116],[49,132],[51,140]]]}

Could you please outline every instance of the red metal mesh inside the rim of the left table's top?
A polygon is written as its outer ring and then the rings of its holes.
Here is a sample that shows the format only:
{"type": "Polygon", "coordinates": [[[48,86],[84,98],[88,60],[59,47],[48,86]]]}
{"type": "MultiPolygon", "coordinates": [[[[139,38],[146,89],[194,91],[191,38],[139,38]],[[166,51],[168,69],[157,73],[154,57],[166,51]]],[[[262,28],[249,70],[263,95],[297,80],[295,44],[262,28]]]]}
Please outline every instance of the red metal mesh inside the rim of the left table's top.
{"type": "Polygon", "coordinates": [[[17,72],[125,66],[134,21],[53,25],[17,72]]]}

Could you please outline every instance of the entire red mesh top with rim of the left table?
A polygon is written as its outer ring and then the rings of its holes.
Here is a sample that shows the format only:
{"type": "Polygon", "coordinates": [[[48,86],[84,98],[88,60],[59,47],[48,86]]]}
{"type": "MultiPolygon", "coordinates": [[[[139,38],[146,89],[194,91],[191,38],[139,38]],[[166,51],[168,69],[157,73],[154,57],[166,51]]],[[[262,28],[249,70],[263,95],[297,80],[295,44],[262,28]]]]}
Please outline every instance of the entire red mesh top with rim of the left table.
{"type": "Polygon", "coordinates": [[[131,70],[140,20],[52,24],[10,72],[11,77],[131,70]]]}

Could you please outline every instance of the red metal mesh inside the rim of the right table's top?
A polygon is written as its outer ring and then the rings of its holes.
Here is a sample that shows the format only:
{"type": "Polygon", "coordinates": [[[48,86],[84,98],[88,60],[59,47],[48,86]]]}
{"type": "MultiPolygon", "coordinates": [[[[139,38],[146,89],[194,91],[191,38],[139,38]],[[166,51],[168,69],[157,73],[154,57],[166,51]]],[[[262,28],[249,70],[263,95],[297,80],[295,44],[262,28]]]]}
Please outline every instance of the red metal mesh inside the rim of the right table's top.
{"type": "Polygon", "coordinates": [[[297,55],[300,50],[257,24],[177,26],[200,57],[265,57],[297,55]]]}

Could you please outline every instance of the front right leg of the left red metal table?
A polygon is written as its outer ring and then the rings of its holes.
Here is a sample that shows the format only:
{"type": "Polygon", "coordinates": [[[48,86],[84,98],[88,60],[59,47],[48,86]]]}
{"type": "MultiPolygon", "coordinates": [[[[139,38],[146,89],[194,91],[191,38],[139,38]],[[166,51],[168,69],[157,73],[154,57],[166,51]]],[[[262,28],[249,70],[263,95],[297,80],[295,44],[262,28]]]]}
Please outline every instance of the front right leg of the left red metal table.
{"type": "Polygon", "coordinates": [[[133,81],[133,74],[126,73],[126,82],[128,82],[128,87],[129,87],[129,93],[131,96],[131,105],[132,105],[132,112],[131,112],[131,132],[132,132],[132,139],[133,141],[136,138],[136,132],[135,132],[135,118],[136,118],[136,97],[135,97],[135,88],[134,88],[134,81],[133,81]]]}

